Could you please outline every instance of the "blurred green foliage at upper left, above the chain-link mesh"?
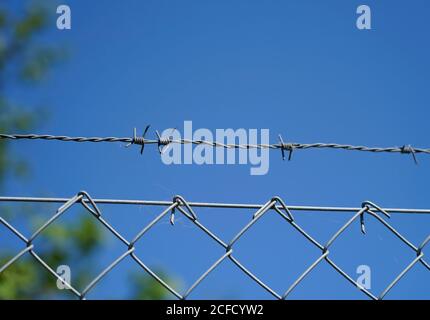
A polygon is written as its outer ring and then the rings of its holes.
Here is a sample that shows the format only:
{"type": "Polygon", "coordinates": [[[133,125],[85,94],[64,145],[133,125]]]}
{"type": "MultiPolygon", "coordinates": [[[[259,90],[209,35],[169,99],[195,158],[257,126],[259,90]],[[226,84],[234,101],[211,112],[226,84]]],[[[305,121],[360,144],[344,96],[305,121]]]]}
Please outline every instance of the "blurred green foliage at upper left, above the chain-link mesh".
{"type": "MultiPolygon", "coordinates": [[[[30,7],[23,16],[15,17],[0,4],[0,131],[20,132],[31,129],[37,114],[11,101],[6,91],[12,85],[40,81],[62,51],[36,45],[35,37],[46,26],[48,15],[39,7],[30,7]]],[[[0,141],[0,187],[8,173],[22,176],[26,165],[10,155],[8,143],[0,141]]]]}

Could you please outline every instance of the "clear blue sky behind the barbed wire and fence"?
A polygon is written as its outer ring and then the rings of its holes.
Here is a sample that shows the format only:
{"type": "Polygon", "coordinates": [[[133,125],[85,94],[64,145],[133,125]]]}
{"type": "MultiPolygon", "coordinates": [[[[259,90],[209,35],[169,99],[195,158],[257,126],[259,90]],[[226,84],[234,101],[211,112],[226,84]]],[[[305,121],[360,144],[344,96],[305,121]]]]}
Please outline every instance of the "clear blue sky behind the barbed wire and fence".
{"type": "MultiPolygon", "coordinates": [[[[66,1],[72,30],[53,23],[47,41],[67,44],[70,59],[37,89],[12,94],[46,104],[51,116],[37,131],[84,136],[130,136],[147,124],[181,128],[268,128],[295,142],[429,147],[429,12],[425,0],[366,1],[372,30],[355,26],[361,1],[66,1]]],[[[55,12],[55,6],[53,6],[55,12]]],[[[151,132],[153,135],[154,132],[151,132]]],[[[69,197],[86,190],[98,198],[263,203],[279,195],[287,204],[430,207],[430,157],[419,166],[407,155],[336,150],[297,151],[291,162],[270,153],[270,171],[249,167],[166,166],[155,147],[144,156],[118,144],[19,142],[32,179],[9,181],[8,195],[69,197]]],[[[102,207],[131,239],[160,209],[102,207]]],[[[228,241],[252,211],[196,210],[228,241]]],[[[324,243],[351,216],[295,213],[324,243]]],[[[413,243],[429,234],[430,217],[393,215],[391,223],[413,243]]],[[[223,250],[184,219],[167,219],[143,240],[138,254],[190,285],[223,250]]],[[[373,292],[414,258],[413,252],[367,219],[368,234],[352,226],[332,258],[355,276],[372,268],[373,292]]],[[[106,241],[100,268],[124,248],[106,241]]],[[[427,249],[427,252],[429,250],[427,249]]],[[[237,257],[278,292],[319,256],[274,214],[236,248],[237,257]]],[[[124,261],[89,298],[127,292],[124,261]]],[[[429,298],[430,273],[416,265],[387,298],[429,298]]],[[[271,298],[229,261],[190,298],[271,298]]],[[[366,298],[326,263],[291,298],[366,298]]]]}

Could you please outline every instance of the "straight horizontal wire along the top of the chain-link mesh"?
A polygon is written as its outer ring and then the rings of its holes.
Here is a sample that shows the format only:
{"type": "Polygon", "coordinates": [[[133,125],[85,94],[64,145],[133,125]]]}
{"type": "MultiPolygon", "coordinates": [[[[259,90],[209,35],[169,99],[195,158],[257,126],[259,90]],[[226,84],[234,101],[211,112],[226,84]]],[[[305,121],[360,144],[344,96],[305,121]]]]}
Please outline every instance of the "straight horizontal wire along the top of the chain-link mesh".
{"type": "MultiPolygon", "coordinates": [[[[43,197],[0,197],[0,202],[27,202],[27,203],[65,203],[69,198],[43,198],[43,197]]],[[[88,202],[87,199],[82,201],[88,202]]],[[[157,201],[157,200],[125,200],[125,199],[93,199],[98,204],[112,205],[141,205],[141,206],[169,206],[173,201],[157,201]]],[[[219,209],[259,209],[263,204],[250,203],[218,203],[218,202],[188,202],[191,207],[200,208],[219,208],[219,209]]],[[[342,207],[342,206],[304,206],[304,205],[287,205],[288,209],[295,211],[312,211],[312,212],[358,212],[361,207],[342,207]]],[[[279,209],[282,209],[279,207],[279,209]]],[[[383,208],[389,213],[401,214],[430,214],[430,209],[414,209],[414,208],[383,208]]]]}

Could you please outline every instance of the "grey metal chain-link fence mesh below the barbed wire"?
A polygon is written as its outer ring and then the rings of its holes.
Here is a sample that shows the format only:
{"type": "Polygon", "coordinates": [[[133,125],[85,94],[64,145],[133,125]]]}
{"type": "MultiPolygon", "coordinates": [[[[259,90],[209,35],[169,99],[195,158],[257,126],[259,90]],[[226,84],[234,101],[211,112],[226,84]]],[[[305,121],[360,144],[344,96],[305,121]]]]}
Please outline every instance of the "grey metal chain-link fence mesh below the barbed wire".
{"type": "MultiPolygon", "coordinates": [[[[287,299],[292,291],[321,263],[327,263],[331,268],[333,268],[337,273],[339,273],[346,281],[351,283],[354,288],[363,292],[367,297],[371,299],[383,299],[386,295],[396,286],[399,281],[404,277],[406,273],[408,273],[417,263],[420,263],[424,268],[430,271],[430,264],[424,260],[424,248],[430,242],[430,234],[418,245],[414,245],[411,241],[409,241],[406,237],[404,237],[399,231],[397,231],[394,227],[392,227],[385,218],[390,218],[391,210],[392,212],[398,211],[403,213],[413,213],[416,209],[384,209],[370,201],[365,201],[361,204],[359,208],[346,208],[346,207],[313,207],[313,206],[288,206],[280,197],[273,197],[265,204],[262,205],[244,205],[244,204],[215,204],[215,203],[201,203],[201,202],[188,202],[181,196],[175,196],[172,201],[140,201],[137,202],[135,200],[113,200],[113,199],[93,199],[90,195],[81,191],[70,199],[65,198],[27,198],[27,197],[2,197],[0,198],[0,202],[51,202],[63,203],[56,212],[45,222],[43,223],[30,237],[24,236],[17,228],[15,228],[11,223],[6,221],[3,217],[0,216],[0,225],[6,227],[6,231],[12,233],[16,238],[21,240],[24,244],[24,248],[20,250],[15,256],[10,258],[4,265],[0,265],[0,275],[9,267],[11,267],[16,261],[21,259],[24,255],[31,255],[35,261],[37,261],[42,267],[49,272],[53,278],[61,281],[65,284],[67,288],[70,289],[76,297],[79,299],[86,299],[88,293],[98,284],[102,279],[110,273],[113,269],[115,269],[121,261],[123,261],[126,257],[131,257],[133,261],[147,274],[153,277],[158,283],[160,283],[166,290],[172,293],[178,299],[186,299],[189,295],[194,291],[194,289],[199,286],[208,275],[217,269],[220,264],[224,261],[230,261],[233,263],[239,270],[241,270],[244,274],[248,276],[252,281],[257,283],[262,289],[270,293],[276,299],[287,299]],[[163,211],[154,218],[149,224],[145,225],[140,231],[131,239],[127,240],[124,236],[122,236],[102,215],[102,211],[97,206],[97,203],[111,203],[111,204],[139,204],[139,205],[159,205],[163,206],[163,211]],[[63,279],[59,274],[57,274],[52,266],[50,266],[39,254],[37,254],[37,248],[34,244],[34,240],[37,239],[46,228],[50,225],[54,224],[55,221],[64,215],[72,206],[80,204],[82,205],[86,211],[91,214],[93,217],[97,219],[97,221],[103,225],[110,233],[112,233],[115,238],[121,242],[124,246],[124,252],[117,257],[112,263],[110,263],[107,267],[105,267],[102,272],[100,272],[89,284],[81,291],[77,290],[71,283],[68,283],[63,279]],[[219,236],[217,236],[212,230],[202,224],[199,220],[197,213],[193,208],[195,207],[218,207],[218,208],[237,208],[237,209],[254,209],[256,210],[252,216],[250,217],[250,221],[243,226],[230,241],[224,241],[219,236]],[[338,211],[355,211],[355,214],[352,218],[348,219],[348,221],[339,228],[332,237],[329,238],[328,241],[321,242],[317,241],[310,233],[304,230],[298,224],[295,214],[293,212],[296,210],[308,210],[308,211],[330,211],[329,209],[333,208],[335,211],[336,208],[338,211]],[[136,253],[136,245],[138,242],[164,217],[170,215],[170,223],[172,225],[175,224],[175,216],[177,213],[182,214],[185,218],[187,218],[191,223],[201,230],[204,234],[206,234],[210,239],[212,239],[218,246],[220,246],[225,253],[221,255],[213,264],[183,293],[179,293],[175,288],[172,287],[171,284],[168,284],[162,277],[154,272],[150,267],[148,267],[137,255],[136,253]],[[289,224],[293,227],[293,229],[301,234],[313,247],[320,250],[321,255],[310,265],[304,266],[305,271],[292,283],[290,284],[287,291],[284,293],[278,293],[273,288],[271,288],[266,282],[264,282],[260,277],[258,277],[254,272],[252,272],[249,268],[247,268],[236,255],[236,243],[242,238],[244,234],[249,232],[253,228],[253,226],[263,218],[269,212],[273,212],[279,215],[282,218],[282,221],[289,224]],[[346,230],[351,230],[350,226],[358,221],[361,227],[361,232],[366,234],[365,228],[365,216],[371,217],[375,219],[376,222],[381,224],[388,232],[395,235],[395,238],[399,239],[399,241],[406,245],[407,248],[413,253],[413,257],[411,257],[411,262],[403,268],[403,270],[391,281],[391,283],[379,294],[375,295],[369,289],[364,288],[362,285],[358,284],[347,272],[343,270],[332,258],[332,253],[330,249],[332,245],[340,241],[340,236],[346,232],[346,230]]],[[[420,209],[421,213],[430,213],[430,209],[420,209]]],[[[350,231],[351,232],[351,231],[350,231]]],[[[255,251],[258,254],[258,250],[255,251]]],[[[281,254],[281,253],[279,253],[281,254]]],[[[0,287],[1,287],[0,283],[0,287]]],[[[429,296],[430,290],[424,292],[424,298],[430,298],[429,296]]]]}

